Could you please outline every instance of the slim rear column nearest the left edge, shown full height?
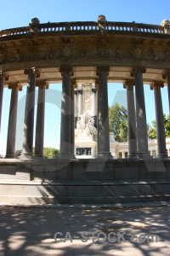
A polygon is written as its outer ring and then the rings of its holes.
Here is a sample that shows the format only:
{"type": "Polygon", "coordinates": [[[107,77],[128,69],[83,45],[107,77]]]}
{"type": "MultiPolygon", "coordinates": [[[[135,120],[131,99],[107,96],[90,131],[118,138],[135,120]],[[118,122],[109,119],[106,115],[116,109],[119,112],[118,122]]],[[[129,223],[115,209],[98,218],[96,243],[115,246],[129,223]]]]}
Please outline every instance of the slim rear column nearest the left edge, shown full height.
{"type": "Polygon", "coordinates": [[[11,101],[8,117],[8,135],[6,158],[14,158],[15,141],[16,141],[16,121],[18,107],[18,92],[22,90],[22,86],[18,83],[9,83],[8,89],[11,89],[11,101]]]}

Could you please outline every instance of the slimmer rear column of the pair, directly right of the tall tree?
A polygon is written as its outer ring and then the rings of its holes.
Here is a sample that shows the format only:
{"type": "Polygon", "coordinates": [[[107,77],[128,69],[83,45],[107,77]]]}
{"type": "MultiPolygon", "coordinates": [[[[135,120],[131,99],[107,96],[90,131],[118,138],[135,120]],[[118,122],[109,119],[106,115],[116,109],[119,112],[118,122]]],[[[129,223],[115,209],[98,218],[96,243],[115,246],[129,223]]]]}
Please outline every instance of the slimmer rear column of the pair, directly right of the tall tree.
{"type": "Polygon", "coordinates": [[[123,88],[127,89],[128,158],[133,158],[137,155],[136,116],[134,109],[133,85],[133,79],[128,79],[123,84],[123,88]]]}

